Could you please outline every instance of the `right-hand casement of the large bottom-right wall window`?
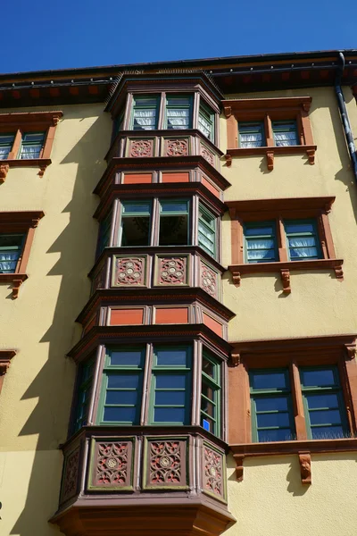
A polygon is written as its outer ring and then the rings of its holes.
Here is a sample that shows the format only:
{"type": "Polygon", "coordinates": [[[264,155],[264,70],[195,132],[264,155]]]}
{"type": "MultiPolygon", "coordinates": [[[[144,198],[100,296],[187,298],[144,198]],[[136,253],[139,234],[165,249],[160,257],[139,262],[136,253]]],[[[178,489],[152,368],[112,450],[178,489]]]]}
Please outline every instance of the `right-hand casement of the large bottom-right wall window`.
{"type": "Polygon", "coordinates": [[[347,437],[348,425],[337,367],[302,367],[300,381],[308,438],[347,437]]]}

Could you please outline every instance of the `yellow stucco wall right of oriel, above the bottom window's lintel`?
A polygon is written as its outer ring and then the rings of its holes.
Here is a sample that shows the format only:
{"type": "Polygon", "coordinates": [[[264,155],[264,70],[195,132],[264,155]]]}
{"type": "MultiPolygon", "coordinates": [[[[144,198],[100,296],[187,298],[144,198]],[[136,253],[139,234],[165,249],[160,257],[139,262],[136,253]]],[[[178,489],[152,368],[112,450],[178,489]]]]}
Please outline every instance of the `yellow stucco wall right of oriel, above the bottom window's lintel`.
{"type": "MultiPolygon", "coordinates": [[[[357,128],[357,108],[351,102],[351,90],[347,92],[350,94],[349,113],[357,128]]],[[[225,163],[221,168],[232,184],[225,192],[225,199],[336,196],[328,218],[336,258],[344,259],[345,281],[337,281],[335,273],[329,270],[291,272],[292,293],[286,296],[278,273],[244,275],[241,287],[236,288],[226,272],[224,303],[237,314],[229,322],[229,339],[356,333],[357,197],[334,89],[309,88],[234,97],[269,96],[312,96],[309,116],[318,147],[315,164],[309,164],[305,155],[276,155],[274,170],[268,172],[265,156],[234,157],[230,168],[225,163]]],[[[227,126],[223,118],[220,119],[220,143],[221,149],[226,151],[227,126]]],[[[228,214],[223,218],[222,229],[222,264],[228,265],[231,264],[228,214]]]]}

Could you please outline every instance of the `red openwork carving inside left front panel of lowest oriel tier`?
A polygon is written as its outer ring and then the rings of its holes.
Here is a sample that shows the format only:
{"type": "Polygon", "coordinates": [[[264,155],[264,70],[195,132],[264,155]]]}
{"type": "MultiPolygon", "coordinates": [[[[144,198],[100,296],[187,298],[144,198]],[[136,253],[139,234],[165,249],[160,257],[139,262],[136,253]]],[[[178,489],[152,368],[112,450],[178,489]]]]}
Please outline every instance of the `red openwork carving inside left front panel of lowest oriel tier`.
{"type": "Polygon", "coordinates": [[[96,456],[96,486],[126,486],[129,483],[129,442],[99,443],[96,456]]]}

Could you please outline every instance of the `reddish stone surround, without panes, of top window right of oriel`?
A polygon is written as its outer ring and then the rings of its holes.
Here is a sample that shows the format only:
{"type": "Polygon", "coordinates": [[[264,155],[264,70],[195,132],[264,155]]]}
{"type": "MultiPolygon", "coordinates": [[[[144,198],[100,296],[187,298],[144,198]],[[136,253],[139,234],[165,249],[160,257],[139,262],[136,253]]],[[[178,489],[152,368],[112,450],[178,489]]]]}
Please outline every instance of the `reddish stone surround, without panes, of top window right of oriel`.
{"type": "Polygon", "coordinates": [[[315,163],[309,110],[311,96],[293,96],[278,98],[232,99],[222,101],[227,118],[227,165],[231,165],[233,156],[266,155],[268,170],[274,168],[274,155],[308,156],[311,164],[315,163]],[[296,130],[295,143],[279,146],[274,132],[274,123],[294,121],[296,130]],[[262,138],[259,147],[239,147],[239,123],[258,123],[262,125],[262,138]]]}

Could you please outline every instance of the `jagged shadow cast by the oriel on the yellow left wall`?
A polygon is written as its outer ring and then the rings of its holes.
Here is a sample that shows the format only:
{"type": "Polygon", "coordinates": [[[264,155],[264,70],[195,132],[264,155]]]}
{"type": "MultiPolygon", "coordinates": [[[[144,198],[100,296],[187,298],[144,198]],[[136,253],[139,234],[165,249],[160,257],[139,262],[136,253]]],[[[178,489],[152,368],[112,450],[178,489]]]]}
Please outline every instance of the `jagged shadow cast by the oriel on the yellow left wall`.
{"type": "MultiPolygon", "coordinates": [[[[81,112],[79,115],[79,111],[70,111],[65,118],[85,119],[83,108],[81,112]]],[[[93,115],[93,109],[90,112],[93,115]]],[[[26,504],[11,532],[21,536],[59,533],[59,529],[47,523],[48,518],[54,515],[58,504],[53,505],[53,499],[50,504],[46,502],[46,489],[51,490],[49,495],[52,498],[52,490],[58,490],[58,496],[62,474],[62,454],[58,447],[66,440],[75,377],[75,366],[65,354],[79,339],[80,331],[75,319],[89,297],[87,272],[91,269],[95,258],[98,225],[93,219],[93,214],[98,199],[92,191],[105,170],[105,164],[101,159],[108,150],[111,132],[110,117],[104,115],[102,110],[99,113],[101,115],[98,119],[61,162],[78,164],[74,184],[71,183],[73,187],[71,202],[63,210],[57,209],[54,203],[55,208],[46,214],[47,222],[50,222],[50,218],[60,217],[63,213],[70,214],[70,221],[46,252],[60,254],[59,260],[47,276],[61,276],[61,285],[54,306],[53,323],[38,341],[48,346],[46,364],[22,397],[22,399],[37,398],[38,401],[28,421],[22,427],[20,435],[37,434],[38,441],[26,504]],[[54,456],[50,459],[57,461],[51,463],[48,456],[44,458],[46,453],[43,451],[47,453],[52,451],[54,456]],[[58,457],[55,456],[55,452],[58,453],[58,457]],[[53,511],[48,511],[46,504],[53,511]]],[[[61,178],[61,174],[59,177],[61,178]]],[[[54,177],[53,183],[55,180],[58,180],[58,177],[54,177]]],[[[49,308],[51,315],[52,306],[49,305],[49,308]]]]}

